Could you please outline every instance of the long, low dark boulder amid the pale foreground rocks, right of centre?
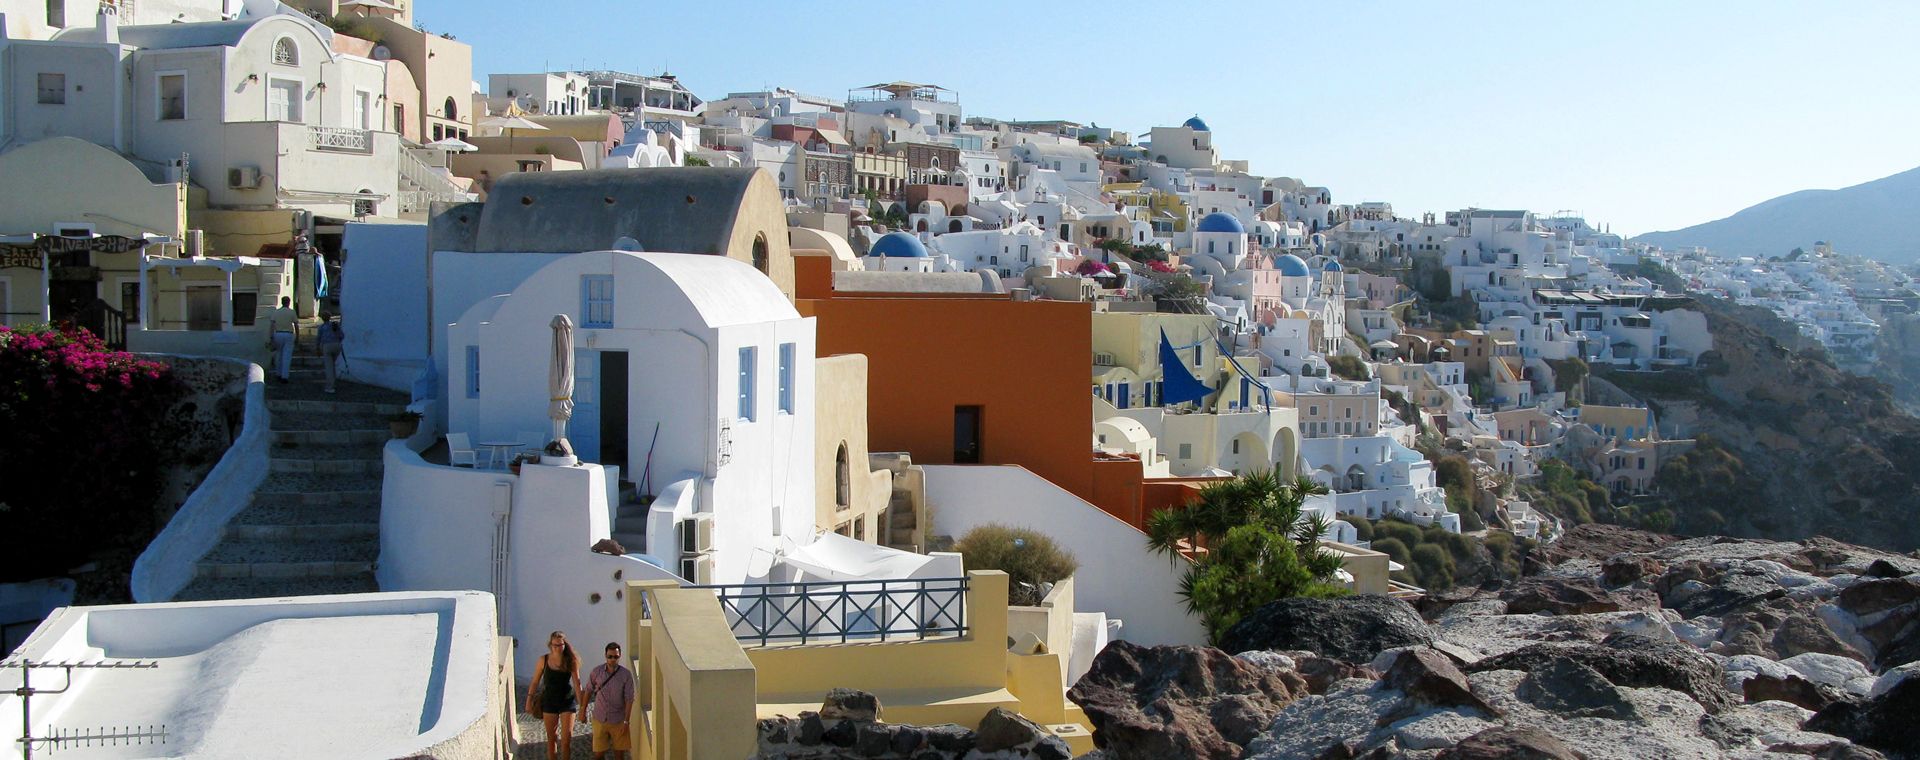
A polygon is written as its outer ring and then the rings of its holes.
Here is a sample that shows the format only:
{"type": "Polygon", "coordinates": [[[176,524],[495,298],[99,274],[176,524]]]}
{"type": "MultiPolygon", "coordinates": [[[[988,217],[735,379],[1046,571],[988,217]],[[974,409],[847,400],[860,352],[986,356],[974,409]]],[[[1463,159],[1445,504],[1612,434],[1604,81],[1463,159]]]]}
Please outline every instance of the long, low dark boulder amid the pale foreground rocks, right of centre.
{"type": "Polygon", "coordinates": [[[1726,672],[1718,662],[1678,641],[1655,641],[1634,633],[1615,633],[1599,645],[1538,643],[1475,662],[1467,670],[1532,672],[1563,658],[1597,670],[1613,685],[1678,691],[1707,712],[1726,710],[1734,702],[1726,693],[1726,672]]]}

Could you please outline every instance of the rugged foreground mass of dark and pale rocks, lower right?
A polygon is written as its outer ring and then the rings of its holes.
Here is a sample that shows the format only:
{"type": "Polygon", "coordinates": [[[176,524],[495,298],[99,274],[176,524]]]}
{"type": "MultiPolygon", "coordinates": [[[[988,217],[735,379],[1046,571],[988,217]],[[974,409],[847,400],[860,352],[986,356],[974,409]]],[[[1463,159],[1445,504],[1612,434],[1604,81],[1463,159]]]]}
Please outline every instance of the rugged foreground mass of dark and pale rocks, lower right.
{"type": "Polygon", "coordinates": [[[1419,610],[1275,603],[1238,653],[1116,643],[1069,697],[1108,758],[1920,752],[1912,557],[1580,526],[1528,566],[1419,610]]]}

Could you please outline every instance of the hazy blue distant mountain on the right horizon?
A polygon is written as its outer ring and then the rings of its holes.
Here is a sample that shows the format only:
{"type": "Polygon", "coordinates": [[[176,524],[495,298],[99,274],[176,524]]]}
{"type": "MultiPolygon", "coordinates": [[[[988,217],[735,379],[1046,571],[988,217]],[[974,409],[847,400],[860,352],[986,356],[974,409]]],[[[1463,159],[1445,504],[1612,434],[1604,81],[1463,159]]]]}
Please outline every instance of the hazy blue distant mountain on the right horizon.
{"type": "Polygon", "coordinates": [[[1705,246],[1722,255],[1786,255],[1816,240],[1839,253],[1889,263],[1920,259],[1920,169],[1841,190],[1801,190],[1732,217],[1684,230],[1647,232],[1634,242],[1705,246]]]}

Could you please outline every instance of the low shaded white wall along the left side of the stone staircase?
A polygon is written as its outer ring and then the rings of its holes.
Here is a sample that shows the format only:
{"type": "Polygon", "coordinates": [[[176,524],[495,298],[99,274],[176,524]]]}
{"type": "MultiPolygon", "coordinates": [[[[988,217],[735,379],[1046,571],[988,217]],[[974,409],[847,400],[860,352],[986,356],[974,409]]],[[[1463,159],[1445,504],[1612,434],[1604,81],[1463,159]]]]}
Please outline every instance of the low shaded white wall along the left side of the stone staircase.
{"type": "Polygon", "coordinates": [[[267,480],[273,420],[267,416],[267,372],[259,365],[246,365],[244,415],[240,436],[132,562],[134,601],[169,601],[192,583],[200,558],[213,551],[227,522],[253,501],[253,489],[267,480]]]}

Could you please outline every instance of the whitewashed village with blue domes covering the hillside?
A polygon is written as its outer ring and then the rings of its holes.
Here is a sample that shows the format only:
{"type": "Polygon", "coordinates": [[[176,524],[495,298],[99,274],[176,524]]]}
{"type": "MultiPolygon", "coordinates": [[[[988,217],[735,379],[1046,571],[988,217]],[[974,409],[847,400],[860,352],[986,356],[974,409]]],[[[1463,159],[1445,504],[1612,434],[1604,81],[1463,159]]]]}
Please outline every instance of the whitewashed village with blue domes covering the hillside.
{"type": "MultiPolygon", "coordinates": [[[[10,750],[545,756],[522,695],[564,631],[624,645],[636,756],[1152,756],[1085,677],[1244,633],[1271,587],[1206,603],[1244,547],[1405,606],[1584,522],[1670,530],[1634,505],[1693,418],[1632,390],[1720,361],[1697,297],[1855,374],[1920,301],[1826,246],[1404,217],[1202,115],[482,79],[413,6],[0,4],[0,347],[152,359],[227,439],[163,461],[123,599],[8,583],[10,750]],[[292,718],[288,679],[346,704],[292,718]]],[[[1210,756],[1286,743],[1250,741],[1210,756]]]]}

